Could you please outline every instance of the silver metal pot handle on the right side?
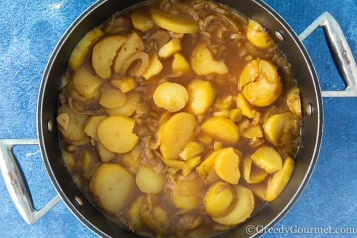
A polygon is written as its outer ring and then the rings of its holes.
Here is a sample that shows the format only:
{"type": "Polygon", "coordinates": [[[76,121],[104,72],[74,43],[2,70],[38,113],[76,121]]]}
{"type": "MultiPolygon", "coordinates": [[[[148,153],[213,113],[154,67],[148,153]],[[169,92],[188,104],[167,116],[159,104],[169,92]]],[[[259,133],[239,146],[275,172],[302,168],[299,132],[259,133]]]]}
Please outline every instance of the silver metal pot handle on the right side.
{"type": "Polygon", "coordinates": [[[300,40],[303,41],[319,26],[324,29],[332,59],[346,84],[344,90],[322,91],[322,96],[357,97],[356,62],[346,37],[336,19],[329,12],[325,11],[301,32],[299,35],[300,40]]]}

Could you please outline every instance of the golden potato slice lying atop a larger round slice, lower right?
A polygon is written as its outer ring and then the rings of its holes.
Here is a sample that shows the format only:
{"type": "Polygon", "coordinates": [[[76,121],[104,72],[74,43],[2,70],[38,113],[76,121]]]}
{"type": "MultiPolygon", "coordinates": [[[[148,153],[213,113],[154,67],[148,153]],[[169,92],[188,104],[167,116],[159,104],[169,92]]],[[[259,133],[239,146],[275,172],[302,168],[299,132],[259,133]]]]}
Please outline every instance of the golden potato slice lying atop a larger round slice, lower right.
{"type": "Polygon", "coordinates": [[[236,201],[236,190],[226,182],[216,182],[208,188],[203,204],[208,215],[222,217],[231,212],[236,201]]]}

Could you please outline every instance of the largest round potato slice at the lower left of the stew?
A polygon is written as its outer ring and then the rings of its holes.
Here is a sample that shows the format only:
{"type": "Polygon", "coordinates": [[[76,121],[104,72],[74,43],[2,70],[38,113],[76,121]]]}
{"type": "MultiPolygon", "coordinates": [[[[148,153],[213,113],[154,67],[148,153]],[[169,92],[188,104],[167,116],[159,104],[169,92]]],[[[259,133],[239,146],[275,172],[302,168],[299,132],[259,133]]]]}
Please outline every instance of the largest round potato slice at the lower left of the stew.
{"type": "Polygon", "coordinates": [[[106,212],[117,214],[133,200],[135,181],[119,164],[102,164],[90,181],[97,204],[106,212]]]}

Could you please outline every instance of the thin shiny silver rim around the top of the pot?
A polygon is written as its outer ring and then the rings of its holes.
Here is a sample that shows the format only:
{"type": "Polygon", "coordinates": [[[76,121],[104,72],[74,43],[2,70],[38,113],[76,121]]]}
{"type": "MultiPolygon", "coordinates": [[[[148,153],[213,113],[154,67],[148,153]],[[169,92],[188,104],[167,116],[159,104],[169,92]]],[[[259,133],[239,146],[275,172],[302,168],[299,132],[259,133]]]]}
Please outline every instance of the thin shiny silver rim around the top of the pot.
{"type": "MultiPolygon", "coordinates": [[[[52,184],[54,185],[56,191],[58,192],[61,200],[64,202],[64,204],[67,206],[67,208],[72,212],[72,214],[83,224],[85,225],[89,230],[91,230],[93,233],[100,237],[109,237],[106,233],[95,227],[92,223],[90,223],[78,210],[77,208],[69,201],[69,199],[65,196],[64,192],[62,191],[61,185],[59,184],[58,180],[55,178],[54,172],[52,170],[51,164],[49,163],[48,156],[46,153],[45,149],[45,140],[44,140],[44,127],[43,125],[47,121],[43,120],[43,115],[42,115],[42,108],[43,108],[43,100],[44,100],[44,92],[45,88],[47,85],[48,77],[49,77],[49,72],[52,69],[53,63],[55,59],[58,56],[58,53],[60,49],[62,48],[64,42],[67,40],[69,35],[71,35],[74,31],[74,29],[78,26],[78,24],[86,18],[88,15],[90,15],[96,8],[100,7],[102,4],[104,4],[108,0],[98,0],[94,2],[92,5],[90,5],[86,10],[84,10],[73,22],[72,24],[67,28],[67,30],[63,33],[61,36],[59,42],[57,43],[55,49],[53,50],[48,63],[45,67],[40,88],[39,88],[39,94],[38,94],[38,103],[37,103],[37,135],[39,138],[39,147],[40,147],[40,152],[41,156],[43,159],[43,162],[45,164],[47,173],[51,179],[52,184]]],[[[154,0],[146,0],[146,2],[150,2],[154,0]]],[[[301,193],[303,192],[304,188],[306,187],[309,179],[311,178],[312,172],[315,168],[318,154],[320,151],[321,147],[321,140],[322,140],[322,131],[323,131],[323,107],[322,107],[322,97],[321,97],[321,89],[320,85],[318,83],[318,77],[314,68],[314,65],[312,63],[312,60],[310,59],[304,45],[298,38],[296,32],[293,30],[293,28],[285,21],[285,19],[277,13],[271,6],[269,6],[267,3],[263,2],[262,0],[251,0],[252,2],[255,2],[256,4],[260,5],[265,11],[269,12],[274,18],[276,18],[282,26],[286,29],[286,32],[294,39],[295,44],[298,46],[298,49],[300,50],[300,53],[303,55],[304,59],[306,60],[306,63],[308,64],[309,68],[309,74],[311,75],[313,79],[313,85],[314,85],[314,90],[316,93],[316,98],[317,98],[317,104],[315,108],[315,112],[317,113],[317,124],[318,124],[318,130],[317,130],[317,135],[316,135],[316,143],[315,143],[315,148],[312,154],[311,162],[308,166],[308,169],[306,171],[305,177],[303,178],[303,182],[299,185],[297,191],[295,194],[292,196],[290,202],[281,210],[281,212],[273,219],[271,220],[266,227],[264,228],[264,231],[266,231],[269,228],[272,228],[275,226],[288,212],[289,210],[293,207],[293,205],[297,202],[297,199],[300,197],[301,193]]],[[[143,2],[132,5],[131,7],[135,7],[137,5],[144,4],[143,2]]],[[[243,12],[244,13],[244,12],[243,12]]],[[[100,23],[101,24],[101,23],[100,23]]],[[[99,25],[99,24],[98,24],[99,25]]],[[[243,223],[244,224],[244,223],[243,223]]],[[[260,237],[264,233],[255,233],[250,236],[250,238],[257,238],[260,237]]],[[[133,234],[137,235],[137,234],[133,234]]]]}

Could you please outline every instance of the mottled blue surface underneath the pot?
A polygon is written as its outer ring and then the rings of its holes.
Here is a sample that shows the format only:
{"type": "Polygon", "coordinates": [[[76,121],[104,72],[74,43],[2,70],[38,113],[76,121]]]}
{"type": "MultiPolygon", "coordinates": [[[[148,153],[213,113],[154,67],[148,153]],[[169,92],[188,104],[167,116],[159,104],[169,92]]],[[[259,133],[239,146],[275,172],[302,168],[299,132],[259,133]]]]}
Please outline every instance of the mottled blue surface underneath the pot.
{"type": "MultiPolygon", "coordinates": [[[[52,50],[71,22],[94,0],[0,1],[0,138],[36,137],[36,102],[41,76],[52,50]]],[[[340,23],[357,56],[356,0],[266,0],[300,33],[323,11],[340,23]]],[[[322,30],[304,44],[322,89],[341,89],[322,30]]],[[[357,98],[324,99],[324,136],[316,169],[296,205],[276,228],[354,227],[357,237],[357,98]],[[296,227],[294,227],[296,226],[296,227]]],[[[36,207],[49,201],[53,188],[38,147],[16,147],[36,207]]],[[[0,237],[96,237],[62,202],[34,226],[18,215],[0,179],[0,237]]],[[[293,234],[266,234],[264,238],[293,234]]],[[[299,234],[332,237],[331,234],[299,234]]]]}

